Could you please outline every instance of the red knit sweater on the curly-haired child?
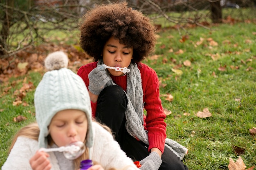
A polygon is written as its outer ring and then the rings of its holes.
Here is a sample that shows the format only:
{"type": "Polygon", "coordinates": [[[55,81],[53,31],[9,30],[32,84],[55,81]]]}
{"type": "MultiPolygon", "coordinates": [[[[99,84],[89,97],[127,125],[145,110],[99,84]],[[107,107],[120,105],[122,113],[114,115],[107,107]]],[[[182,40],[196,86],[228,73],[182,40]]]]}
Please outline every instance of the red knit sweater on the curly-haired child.
{"type": "MultiPolygon", "coordinates": [[[[166,115],[162,107],[161,99],[159,98],[159,80],[155,70],[148,67],[148,65],[144,63],[138,63],[137,65],[141,73],[144,109],[146,110],[144,128],[148,130],[148,150],[151,148],[159,148],[163,153],[166,139],[166,123],[164,122],[166,115]]],[[[81,66],[77,72],[77,74],[83,78],[87,88],[89,86],[88,74],[96,67],[97,62],[89,63],[81,66]]],[[[114,83],[121,86],[124,91],[126,91],[127,75],[111,76],[111,78],[114,83]]],[[[92,116],[95,116],[97,102],[91,102],[91,105],[92,116]]]]}

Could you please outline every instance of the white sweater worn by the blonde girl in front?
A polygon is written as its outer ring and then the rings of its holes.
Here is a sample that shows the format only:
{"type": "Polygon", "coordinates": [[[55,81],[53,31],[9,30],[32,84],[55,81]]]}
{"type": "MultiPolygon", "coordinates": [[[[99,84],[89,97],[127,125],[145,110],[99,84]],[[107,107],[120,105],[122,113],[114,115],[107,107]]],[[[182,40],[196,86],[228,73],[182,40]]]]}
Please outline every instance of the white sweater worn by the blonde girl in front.
{"type": "MultiPolygon", "coordinates": [[[[126,166],[129,166],[126,170],[137,169],[132,159],[126,156],[108,131],[95,122],[92,123],[92,131],[94,143],[90,152],[93,161],[100,163],[104,169],[122,169],[126,166]]],[[[6,162],[2,166],[2,170],[31,170],[29,159],[38,149],[38,141],[27,137],[18,137],[6,162]]],[[[48,159],[52,165],[51,170],[65,170],[65,168],[60,169],[59,164],[69,160],[64,157],[57,159],[54,153],[49,153],[49,155],[48,159]]]]}

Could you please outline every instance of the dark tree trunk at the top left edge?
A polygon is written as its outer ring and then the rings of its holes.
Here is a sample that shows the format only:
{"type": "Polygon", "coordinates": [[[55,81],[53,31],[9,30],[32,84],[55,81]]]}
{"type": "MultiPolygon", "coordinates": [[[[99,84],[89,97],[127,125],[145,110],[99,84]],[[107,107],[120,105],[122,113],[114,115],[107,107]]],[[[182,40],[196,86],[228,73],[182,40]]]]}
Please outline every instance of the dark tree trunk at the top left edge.
{"type": "MultiPolygon", "coordinates": [[[[6,5],[9,7],[14,7],[14,0],[7,0],[6,5]]],[[[9,28],[10,28],[10,21],[12,19],[13,15],[13,9],[6,8],[5,13],[4,13],[4,18],[3,18],[3,24],[2,24],[2,29],[0,31],[0,35],[2,38],[0,38],[0,56],[4,55],[4,50],[7,49],[7,44],[6,40],[9,36],[9,28]]]]}

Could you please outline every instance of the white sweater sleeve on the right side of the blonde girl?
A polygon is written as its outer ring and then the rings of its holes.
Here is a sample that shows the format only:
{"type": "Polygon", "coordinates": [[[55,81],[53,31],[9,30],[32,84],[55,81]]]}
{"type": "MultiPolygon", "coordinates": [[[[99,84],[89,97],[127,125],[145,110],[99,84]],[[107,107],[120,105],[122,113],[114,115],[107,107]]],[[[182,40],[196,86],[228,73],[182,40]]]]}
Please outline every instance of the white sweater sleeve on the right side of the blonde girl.
{"type": "Polygon", "coordinates": [[[127,166],[132,170],[138,170],[132,159],[126,156],[118,142],[106,129],[95,122],[92,123],[92,126],[94,128],[93,161],[100,163],[105,170],[110,168],[124,169],[127,166]]]}

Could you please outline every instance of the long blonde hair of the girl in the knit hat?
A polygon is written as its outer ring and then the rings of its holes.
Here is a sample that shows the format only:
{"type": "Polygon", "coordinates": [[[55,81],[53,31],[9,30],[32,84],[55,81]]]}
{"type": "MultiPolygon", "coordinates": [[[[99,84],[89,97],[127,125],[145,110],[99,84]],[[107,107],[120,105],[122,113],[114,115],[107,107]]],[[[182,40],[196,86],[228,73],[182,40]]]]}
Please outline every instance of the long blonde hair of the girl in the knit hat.
{"type": "MultiPolygon", "coordinates": [[[[92,120],[93,122],[97,122],[95,120],[92,120]]],[[[99,122],[97,122],[98,124],[100,124],[99,122]]],[[[104,129],[106,129],[108,132],[111,132],[110,128],[106,125],[103,125],[103,124],[100,124],[104,129]]],[[[22,127],[17,133],[16,135],[13,137],[13,140],[11,142],[11,146],[9,147],[9,153],[11,152],[11,149],[13,148],[13,145],[15,144],[17,138],[19,136],[23,136],[23,137],[28,137],[30,139],[34,139],[34,140],[37,140],[38,141],[38,136],[39,136],[39,133],[40,133],[40,129],[39,129],[39,126],[36,122],[33,122],[33,123],[30,123],[28,124],[27,126],[24,126],[22,127]]],[[[48,135],[48,144],[49,145],[52,145],[53,144],[53,141],[52,141],[52,138],[50,135],[48,135]]],[[[84,141],[84,144],[85,144],[85,141],[84,141]]],[[[88,147],[86,147],[85,149],[85,152],[78,158],[74,159],[74,164],[75,164],[75,168],[76,169],[79,169],[80,168],[80,162],[82,160],[85,160],[85,159],[89,159],[88,157],[89,155],[89,149],[88,147]]],[[[112,169],[114,170],[114,169],[112,169]]]]}

